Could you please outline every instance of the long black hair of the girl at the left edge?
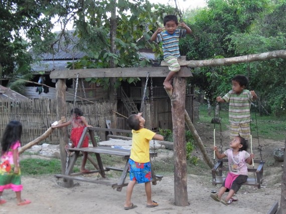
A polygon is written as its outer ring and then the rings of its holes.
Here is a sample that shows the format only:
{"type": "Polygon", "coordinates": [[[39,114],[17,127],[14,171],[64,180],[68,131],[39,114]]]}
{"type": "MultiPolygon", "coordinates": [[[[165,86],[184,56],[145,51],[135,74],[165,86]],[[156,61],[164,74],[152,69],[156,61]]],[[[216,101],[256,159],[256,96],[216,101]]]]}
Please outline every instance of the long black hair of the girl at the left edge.
{"type": "Polygon", "coordinates": [[[16,120],[10,121],[5,128],[1,141],[2,154],[7,152],[17,141],[21,142],[21,136],[22,124],[16,120]]]}

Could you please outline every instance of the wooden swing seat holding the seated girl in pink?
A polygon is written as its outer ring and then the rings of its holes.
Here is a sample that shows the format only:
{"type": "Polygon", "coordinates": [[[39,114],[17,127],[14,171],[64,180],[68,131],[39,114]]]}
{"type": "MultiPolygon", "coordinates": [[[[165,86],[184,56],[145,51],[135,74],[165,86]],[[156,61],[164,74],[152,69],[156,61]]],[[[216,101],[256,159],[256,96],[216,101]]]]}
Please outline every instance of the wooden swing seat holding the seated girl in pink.
{"type": "MultiPolygon", "coordinates": [[[[225,176],[228,171],[228,167],[223,167],[223,163],[228,163],[228,159],[218,160],[215,167],[212,169],[212,184],[221,184],[225,180],[225,176]],[[223,173],[224,172],[224,173],[223,173]],[[225,174],[225,175],[224,175],[225,174]]],[[[263,165],[265,161],[263,160],[253,160],[254,163],[257,163],[257,168],[251,168],[250,166],[247,168],[248,172],[255,172],[255,177],[247,178],[247,181],[243,183],[243,185],[256,186],[258,189],[261,188],[261,184],[263,181],[263,165]]]]}

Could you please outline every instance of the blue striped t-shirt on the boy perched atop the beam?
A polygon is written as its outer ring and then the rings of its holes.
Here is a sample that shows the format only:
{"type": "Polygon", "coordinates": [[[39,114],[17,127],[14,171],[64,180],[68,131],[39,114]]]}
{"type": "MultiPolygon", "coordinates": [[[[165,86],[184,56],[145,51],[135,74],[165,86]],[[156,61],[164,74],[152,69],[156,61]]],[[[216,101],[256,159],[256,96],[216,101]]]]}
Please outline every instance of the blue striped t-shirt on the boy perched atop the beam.
{"type": "Polygon", "coordinates": [[[169,34],[167,31],[163,31],[157,34],[156,42],[163,42],[162,48],[164,53],[164,59],[169,56],[175,58],[180,57],[179,51],[179,39],[186,36],[185,29],[176,29],[174,34],[169,34]]]}

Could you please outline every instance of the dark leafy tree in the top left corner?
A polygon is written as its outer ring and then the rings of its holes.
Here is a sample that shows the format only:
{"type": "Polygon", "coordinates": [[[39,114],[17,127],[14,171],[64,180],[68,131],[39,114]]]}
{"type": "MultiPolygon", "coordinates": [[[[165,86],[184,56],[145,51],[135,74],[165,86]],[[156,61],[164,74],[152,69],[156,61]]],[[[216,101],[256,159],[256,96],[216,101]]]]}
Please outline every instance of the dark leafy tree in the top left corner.
{"type": "Polygon", "coordinates": [[[52,28],[50,20],[42,16],[45,5],[42,0],[0,3],[0,78],[31,77],[32,58],[27,48],[31,41],[36,44],[39,36],[49,35],[52,28]]]}

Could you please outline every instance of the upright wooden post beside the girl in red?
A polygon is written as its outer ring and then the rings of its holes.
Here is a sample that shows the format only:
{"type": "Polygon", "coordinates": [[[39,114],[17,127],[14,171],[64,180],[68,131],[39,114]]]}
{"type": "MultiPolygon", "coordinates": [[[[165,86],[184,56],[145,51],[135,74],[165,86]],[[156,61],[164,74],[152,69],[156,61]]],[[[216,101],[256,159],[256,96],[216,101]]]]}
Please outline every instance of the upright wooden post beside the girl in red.
{"type": "MultiPolygon", "coordinates": [[[[64,79],[59,79],[56,83],[56,99],[57,99],[57,118],[62,116],[66,117],[67,113],[67,104],[66,104],[66,83],[64,79]]],[[[67,153],[65,150],[65,145],[68,142],[68,128],[67,126],[59,128],[59,139],[60,139],[60,156],[61,156],[61,166],[62,174],[65,174],[66,171],[66,159],[67,153]]],[[[72,187],[73,180],[63,180],[64,187],[72,187]]]]}

